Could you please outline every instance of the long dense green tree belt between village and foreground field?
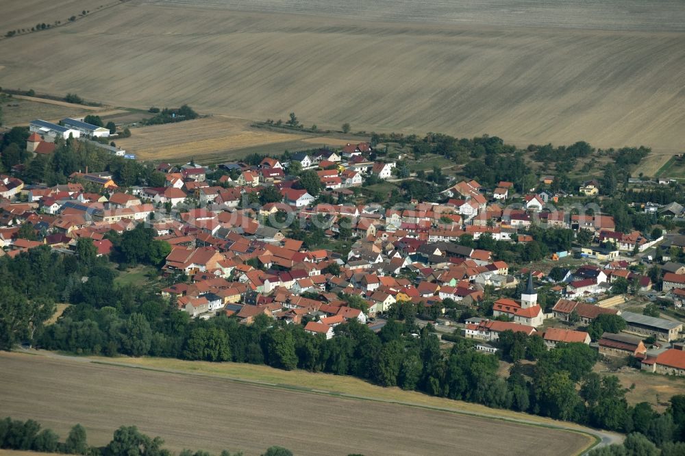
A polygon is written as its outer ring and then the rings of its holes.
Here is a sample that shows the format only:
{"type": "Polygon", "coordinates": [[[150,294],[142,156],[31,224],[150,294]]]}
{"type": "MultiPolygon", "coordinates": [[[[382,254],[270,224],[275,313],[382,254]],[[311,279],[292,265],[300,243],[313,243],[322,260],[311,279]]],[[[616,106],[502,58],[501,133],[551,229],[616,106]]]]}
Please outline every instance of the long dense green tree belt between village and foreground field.
{"type": "MultiPolygon", "coordinates": [[[[400,309],[401,303],[391,314],[404,321],[390,319],[375,333],[352,320],[338,325],[336,337],[327,340],[307,333],[302,325],[286,325],[264,315],[252,325],[227,316],[192,320],[177,309],[175,299],[164,299],[157,290],[116,286],[118,272],[109,260],[89,258],[82,262],[47,247],[14,259],[0,258],[1,348],[30,341],[45,349],[86,355],[151,355],[299,368],[612,431],[643,429],[634,424],[636,414],[642,417],[649,405],[629,406],[616,377],[593,373],[598,355],[585,344],[559,344],[543,351],[539,340],[521,342],[516,336],[505,336],[505,347],[510,347],[506,356],[514,364],[510,375],[501,377],[497,357],[475,351],[473,340],[456,338],[449,351],[441,351],[434,333],[414,325],[417,311],[400,309]],[[50,280],[37,279],[42,277],[50,280]],[[43,325],[58,300],[73,305],[55,324],[43,325]],[[522,357],[537,363],[523,365],[522,357]]],[[[614,323],[602,321],[596,331],[611,329],[614,323]]],[[[675,412],[652,412],[647,421],[659,424],[646,425],[648,438],[683,440],[681,422],[673,421],[675,412]]]]}

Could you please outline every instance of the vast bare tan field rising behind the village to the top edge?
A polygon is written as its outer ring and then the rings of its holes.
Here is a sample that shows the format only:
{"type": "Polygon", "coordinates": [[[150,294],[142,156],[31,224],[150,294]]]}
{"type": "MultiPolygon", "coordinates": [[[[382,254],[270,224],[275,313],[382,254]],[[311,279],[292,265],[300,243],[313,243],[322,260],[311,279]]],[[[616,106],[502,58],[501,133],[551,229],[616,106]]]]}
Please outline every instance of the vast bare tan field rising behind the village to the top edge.
{"type": "Polygon", "coordinates": [[[683,147],[681,1],[228,5],[133,0],[12,38],[0,84],[322,128],[683,147]]]}

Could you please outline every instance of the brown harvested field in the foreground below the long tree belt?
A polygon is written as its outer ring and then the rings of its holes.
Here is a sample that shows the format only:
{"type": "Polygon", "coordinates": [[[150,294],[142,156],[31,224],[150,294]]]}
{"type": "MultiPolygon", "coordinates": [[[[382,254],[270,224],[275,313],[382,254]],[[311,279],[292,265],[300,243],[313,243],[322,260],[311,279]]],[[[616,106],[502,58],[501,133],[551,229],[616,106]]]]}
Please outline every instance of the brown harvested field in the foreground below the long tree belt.
{"type": "Polygon", "coordinates": [[[104,444],[120,425],[160,435],[173,451],[227,448],[246,455],[273,444],[298,456],[571,455],[591,442],[559,429],[214,376],[17,353],[0,353],[0,366],[3,415],[34,418],[60,435],[80,422],[91,444],[104,444]]]}

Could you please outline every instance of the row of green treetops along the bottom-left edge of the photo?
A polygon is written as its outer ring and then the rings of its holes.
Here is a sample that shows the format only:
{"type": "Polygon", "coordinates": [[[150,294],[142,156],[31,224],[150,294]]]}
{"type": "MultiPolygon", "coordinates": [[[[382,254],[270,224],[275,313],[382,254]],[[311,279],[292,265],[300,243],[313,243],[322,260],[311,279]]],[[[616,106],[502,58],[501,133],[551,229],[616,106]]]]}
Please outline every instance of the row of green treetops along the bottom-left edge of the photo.
{"type": "MultiPolygon", "coordinates": [[[[88,456],[171,456],[173,453],[163,448],[164,440],[151,438],[138,431],[135,426],[122,426],[114,431],[112,440],[105,446],[90,446],[86,429],[75,425],[66,440],[52,429],[40,429],[34,420],[0,420],[0,448],[19,451],[40,451],[42,453],[62,453],[67,455],[88,456]]],[[[183,450],[179,456],[212,456],[207,451],[183,450]]],[[[223,450],[220,456],[242,456],[242,452],[231,453],[223,450]]],[[[281,446],[271,446],[262,456],[292,456],[292,451],[281,446]]]]}

